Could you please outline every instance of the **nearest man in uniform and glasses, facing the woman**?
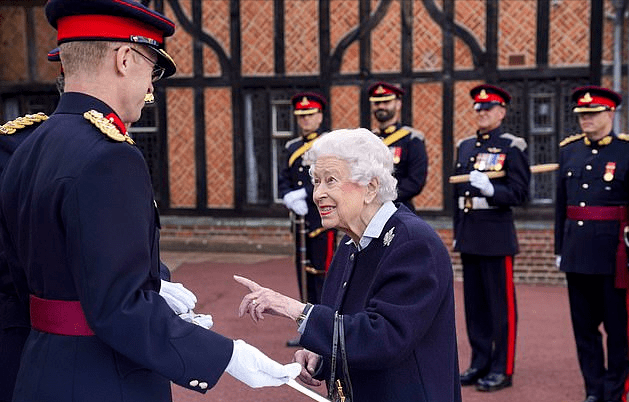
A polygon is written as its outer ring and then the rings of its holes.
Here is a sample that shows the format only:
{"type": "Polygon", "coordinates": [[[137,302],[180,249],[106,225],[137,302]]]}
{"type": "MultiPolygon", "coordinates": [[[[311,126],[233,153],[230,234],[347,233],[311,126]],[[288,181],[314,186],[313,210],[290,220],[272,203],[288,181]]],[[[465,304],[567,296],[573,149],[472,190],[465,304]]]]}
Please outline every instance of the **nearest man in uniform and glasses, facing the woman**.
{"type": "Polygon", "coordinates": [[[170,381],[205,392],[224,371],[252,387],[295,377],[299,365],[182,320],[158,294],[158,217],[125,124],[175,72],[174,24],[123,0],[51,0],[46,16],[65,93],[0,184],[2,247],[33,328],[13,400],[170,401],[170,381]]]}

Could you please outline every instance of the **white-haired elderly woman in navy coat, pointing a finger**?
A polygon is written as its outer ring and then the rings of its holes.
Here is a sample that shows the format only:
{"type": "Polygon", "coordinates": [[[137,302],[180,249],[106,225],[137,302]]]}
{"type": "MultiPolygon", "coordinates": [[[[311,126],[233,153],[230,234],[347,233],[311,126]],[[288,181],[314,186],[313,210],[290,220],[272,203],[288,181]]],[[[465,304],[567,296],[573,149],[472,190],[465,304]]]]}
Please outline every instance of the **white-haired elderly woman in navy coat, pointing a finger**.
{"type": "Polygon", "coordinates": [[[299,378],[342,400],[461,400],[452,268],[434,230],[394,205],[389,149],[366,129],[337,130],[308,152],[323,226],[343,238],[321,304],[303,304],[242,277],[240,316],[293,319],[305,350],[299,378]],[[342,389],[339,389],[339,386],[342,389]]]}

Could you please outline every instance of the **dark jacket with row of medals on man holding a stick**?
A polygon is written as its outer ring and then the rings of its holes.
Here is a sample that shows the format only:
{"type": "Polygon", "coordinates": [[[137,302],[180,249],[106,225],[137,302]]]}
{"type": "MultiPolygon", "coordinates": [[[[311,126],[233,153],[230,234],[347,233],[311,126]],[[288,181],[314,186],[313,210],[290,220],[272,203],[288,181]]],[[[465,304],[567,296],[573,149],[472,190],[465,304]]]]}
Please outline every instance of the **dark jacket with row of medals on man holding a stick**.
{"type": "Polygon", "coordinates": [[[473,170],[500,170],[505,171],[506,176],[491,180],[493,197],[484,197],[469,182],[455,185],[455,251],[486,256],[517,254],[518,240],[511,207],[522,205],[528,199],[531,171],[526,142],[512,134],[503,134],[501,127],[462,140],[457,145],[455,175],[473,170]],[[474,209],[469,207],[473,202],[487,205],[474,209]]]}

